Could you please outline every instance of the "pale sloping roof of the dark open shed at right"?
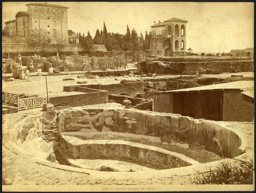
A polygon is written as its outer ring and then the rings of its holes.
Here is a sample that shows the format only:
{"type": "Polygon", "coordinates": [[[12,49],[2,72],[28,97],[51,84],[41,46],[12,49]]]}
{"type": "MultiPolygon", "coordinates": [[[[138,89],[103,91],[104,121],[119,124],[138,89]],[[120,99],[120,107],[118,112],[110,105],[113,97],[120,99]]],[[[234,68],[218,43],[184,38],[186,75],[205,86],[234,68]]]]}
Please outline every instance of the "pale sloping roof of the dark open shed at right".
{"type": "MultiPolygon", "coordinates": [[[[169,90],[164,92],[192,92],[192,91],[203,91],[203,90],[224,90],[224,89],[248,89],[251,90],[254,87],[254,81],[236,81],[236,82],[229,82],[229,83],[221,83],[221,84],[212,84],[207,86],[198,86],[193,88],[187,89],[177,89],[177,90],[169,90]]],[[[163,92],[155,92],[151,94],[157,94],[163,92]]],[[[150,94],[149,94],[150,95],[150,94]]]]}

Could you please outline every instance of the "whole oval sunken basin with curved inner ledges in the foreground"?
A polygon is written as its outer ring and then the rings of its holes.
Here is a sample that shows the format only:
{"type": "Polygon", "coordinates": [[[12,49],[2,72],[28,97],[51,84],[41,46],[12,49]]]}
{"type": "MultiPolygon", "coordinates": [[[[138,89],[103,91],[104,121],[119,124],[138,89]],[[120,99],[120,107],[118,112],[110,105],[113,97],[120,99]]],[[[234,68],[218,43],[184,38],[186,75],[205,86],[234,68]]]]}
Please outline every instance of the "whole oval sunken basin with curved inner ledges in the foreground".
{"type": "MultiPolygon", "coordinates": [[[[245,147],[241,135],[216,124],[215,121],[198,121],[180,115],[133,109],[76,107],[62,110],[58,115],[44,112],[28,116],[15,124],[10,136],[11,141],[17,144],[23,153],[43,161],[44,165],[88,174],[88,171],[93,170],[143,172],[145,175],[150,171],[163,171],[163,174],[168,176],[169,170],[174,172],[174,169],[191,167],[188,170],[191,172],[193,166],[198,167],[201,163],[206,163],[188,156],[189,154],[184,155],[182,151],[175,152],[169,148],[172,143],[178,144],[181,141],[188,146],[187,152],[192,146],[200,146],[213,156],[222,158],[239,156],[245,147]],[[49,130],[46,132],[45,125],[50,130],[51,125],[57,125],[58,137],[49,134],[49,130]],[[136,140],[140,138],[147,143],[122,138],[81,137],[90,133],[102,133],[103,136],[104,133],[111,132],[136,140]],[[45,141],[45,135],[50,135],[52,141],[45,141]]],[[[221,158],[212,161],[219,160],[221,158]]],[[[125,173],[122,173],[122,176],[125,178],[125,173]]]]}

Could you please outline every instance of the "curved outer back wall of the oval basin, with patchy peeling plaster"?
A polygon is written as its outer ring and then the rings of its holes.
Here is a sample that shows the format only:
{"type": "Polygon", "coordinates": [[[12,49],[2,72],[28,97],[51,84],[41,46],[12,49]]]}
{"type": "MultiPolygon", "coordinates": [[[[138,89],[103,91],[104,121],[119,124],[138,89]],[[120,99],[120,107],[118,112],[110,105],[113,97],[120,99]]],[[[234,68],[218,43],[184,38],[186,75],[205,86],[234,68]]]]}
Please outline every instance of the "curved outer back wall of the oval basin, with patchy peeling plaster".
{"type": "Polygon", "coordinates": [[[175,114],[140,110],[70,110],[59,114],[59,131],[102,131],[135,133],[182,140],[188,144],[204,145],[219,156],[234,158],[245,148],[235,131],[221,127],[214,121],[198,121],[175,114]]]}

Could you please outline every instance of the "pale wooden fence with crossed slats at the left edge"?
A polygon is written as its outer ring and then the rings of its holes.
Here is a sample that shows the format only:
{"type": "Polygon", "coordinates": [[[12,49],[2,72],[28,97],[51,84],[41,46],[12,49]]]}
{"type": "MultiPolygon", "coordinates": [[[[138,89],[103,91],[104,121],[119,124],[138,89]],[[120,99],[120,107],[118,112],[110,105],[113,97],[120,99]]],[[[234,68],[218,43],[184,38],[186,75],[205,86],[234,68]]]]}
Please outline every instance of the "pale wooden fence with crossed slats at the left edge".
{"type": "Polygon", "coordinates": [[[19,95],[2,92],[2,101],[18,107],[19,110],[34,109],[47,104],[46,97],[19,98],[19,95]]]}

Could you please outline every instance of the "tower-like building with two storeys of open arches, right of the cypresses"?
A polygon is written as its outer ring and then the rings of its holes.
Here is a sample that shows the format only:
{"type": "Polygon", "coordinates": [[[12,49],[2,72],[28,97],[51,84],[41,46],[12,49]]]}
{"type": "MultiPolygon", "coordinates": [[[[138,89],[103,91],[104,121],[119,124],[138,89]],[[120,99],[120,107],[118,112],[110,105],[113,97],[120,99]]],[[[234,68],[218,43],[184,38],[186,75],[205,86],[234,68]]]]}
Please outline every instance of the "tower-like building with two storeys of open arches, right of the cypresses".
{"type": "Polygon", "coordinates": [[[186,55],[186,23],[175,17],[151,26],[150,49],[164,56],[186,55]]]}

